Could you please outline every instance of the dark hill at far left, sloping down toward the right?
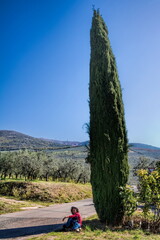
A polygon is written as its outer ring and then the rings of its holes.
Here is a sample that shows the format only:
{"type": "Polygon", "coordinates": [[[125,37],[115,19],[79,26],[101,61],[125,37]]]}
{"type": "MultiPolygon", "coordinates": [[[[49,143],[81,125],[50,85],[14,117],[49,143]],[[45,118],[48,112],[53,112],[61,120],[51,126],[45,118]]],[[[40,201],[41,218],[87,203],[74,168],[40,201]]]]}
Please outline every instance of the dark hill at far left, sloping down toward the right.
{"type": "Polygon", "coordinates": [[[23,133],[9,130],[0,130],[0,150],[19,150],[19,149],[55,149],[65,147],[60,142],[34,138],[23,133]]]}

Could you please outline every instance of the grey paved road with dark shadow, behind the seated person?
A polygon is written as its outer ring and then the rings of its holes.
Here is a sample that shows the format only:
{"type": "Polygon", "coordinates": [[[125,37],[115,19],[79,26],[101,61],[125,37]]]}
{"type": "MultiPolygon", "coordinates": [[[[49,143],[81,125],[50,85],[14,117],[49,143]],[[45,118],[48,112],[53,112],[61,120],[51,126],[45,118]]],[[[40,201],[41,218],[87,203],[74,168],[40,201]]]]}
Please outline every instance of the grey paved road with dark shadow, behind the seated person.
{"type": "Polygon", "coordinates": [[[82,218],[95,214],[92,199],[0,215],[0,239],[22,240],[58,230],[71,206],[79,208],[82,218]]]}

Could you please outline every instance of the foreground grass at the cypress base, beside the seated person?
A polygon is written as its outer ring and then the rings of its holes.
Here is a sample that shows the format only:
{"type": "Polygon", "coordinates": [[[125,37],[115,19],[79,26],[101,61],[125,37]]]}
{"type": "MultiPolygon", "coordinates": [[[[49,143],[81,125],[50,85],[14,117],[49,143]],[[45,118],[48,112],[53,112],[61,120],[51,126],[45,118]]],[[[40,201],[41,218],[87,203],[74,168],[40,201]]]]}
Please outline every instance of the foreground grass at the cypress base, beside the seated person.
{"type": "Polygon", "coordinates": [[[160,240],[160,235],[143,232],[142,230],[124,230],[122,228],[109,229],[100,223],[97,216],[84,221],[84,227],[80,233],[76,232],[52,232],[40,237],[28,240],[160,240]]]}

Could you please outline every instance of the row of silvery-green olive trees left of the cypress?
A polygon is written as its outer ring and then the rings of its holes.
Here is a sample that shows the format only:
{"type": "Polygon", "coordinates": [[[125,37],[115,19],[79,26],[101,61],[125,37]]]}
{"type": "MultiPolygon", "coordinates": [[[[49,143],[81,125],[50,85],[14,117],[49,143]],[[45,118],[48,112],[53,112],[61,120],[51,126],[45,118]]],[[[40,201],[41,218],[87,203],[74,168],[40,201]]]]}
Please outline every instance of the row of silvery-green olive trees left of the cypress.
{"type": "Polygon", "coordinates": [[[82,159],[58,159],[47,152],[0,152],[0,177],[86,183],[90,181],[90,166],[82,159]]]}

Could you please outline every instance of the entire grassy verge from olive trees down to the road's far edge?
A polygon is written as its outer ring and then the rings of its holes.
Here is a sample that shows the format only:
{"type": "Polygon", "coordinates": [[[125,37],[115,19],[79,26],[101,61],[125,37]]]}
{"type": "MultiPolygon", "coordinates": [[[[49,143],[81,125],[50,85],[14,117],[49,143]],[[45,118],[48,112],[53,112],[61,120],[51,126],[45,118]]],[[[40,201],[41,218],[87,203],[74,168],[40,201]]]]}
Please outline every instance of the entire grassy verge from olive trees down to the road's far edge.
{"type": "Polygon", "coordinates": [[[19,211],[22,207],[32,207],[35,204],[49,206],[54,203],[90,198],[92,193],[90,184],[1,181],[0,196],[0,214],[3,214],[19,211]]]}

